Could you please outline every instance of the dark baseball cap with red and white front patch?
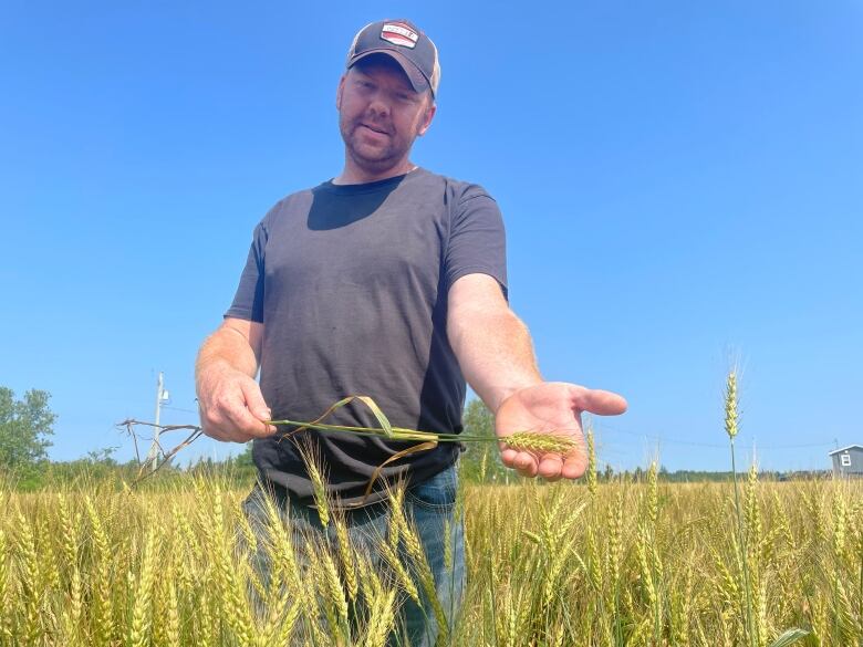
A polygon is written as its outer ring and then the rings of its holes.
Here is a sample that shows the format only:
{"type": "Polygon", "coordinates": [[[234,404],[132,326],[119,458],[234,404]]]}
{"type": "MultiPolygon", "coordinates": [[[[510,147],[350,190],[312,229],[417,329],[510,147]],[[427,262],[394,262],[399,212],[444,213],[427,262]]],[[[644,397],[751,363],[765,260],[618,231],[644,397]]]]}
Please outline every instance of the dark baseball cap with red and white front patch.
{"type": "Polygon", "coordinates": [[[414,90],[425,92],[432,88],[432,95],[437,95],[440,83],[437,48],[410,21],[399,18],[366,24],[351,43],[345,67],[350,69],[372,54],[388,54],[405,71],[414,90]]]}

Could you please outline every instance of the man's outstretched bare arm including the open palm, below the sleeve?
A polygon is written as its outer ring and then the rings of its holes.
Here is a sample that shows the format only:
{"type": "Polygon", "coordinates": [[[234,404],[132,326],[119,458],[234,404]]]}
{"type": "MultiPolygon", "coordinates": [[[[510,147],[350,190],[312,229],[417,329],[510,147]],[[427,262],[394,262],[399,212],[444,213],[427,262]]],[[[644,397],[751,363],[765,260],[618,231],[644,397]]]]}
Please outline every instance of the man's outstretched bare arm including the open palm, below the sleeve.
{"type": "Polygon", "coordinates": [[[495,415],[499,438],[516,431],[553,434],[578,448],[563,456],[503,448],[503,463],[528,477],[581,477],[588,466],[582,411],[617,415],[626,410],[626,400],[605,390],[544,382],[527,326],[488,274],[467,274],[453,283],[447,336],[465,379],[495,415]]]}

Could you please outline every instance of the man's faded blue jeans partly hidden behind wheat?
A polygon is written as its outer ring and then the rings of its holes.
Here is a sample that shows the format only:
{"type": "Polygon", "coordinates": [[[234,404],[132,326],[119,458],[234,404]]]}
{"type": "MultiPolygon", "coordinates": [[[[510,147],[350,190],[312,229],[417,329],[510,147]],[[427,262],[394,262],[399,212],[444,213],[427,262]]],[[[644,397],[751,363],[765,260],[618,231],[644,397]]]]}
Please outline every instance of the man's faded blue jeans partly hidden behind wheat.
{"type": "MultiPolygon", "coordinates": [[[[438,472],[422,483],[415,483],[405,491],[405,515],[413,520],[428,565],[435,577],[437,598],[447,617],[450,634],[461,606],[465,592],[465,526],[464,515],[456,520],[456,492],[458,490],[458,472],[451,466],[438,472]],[[449,526],[453,564],[448,570],[445,564],[445,529],[449,526]]],[[[269,495],[260,486],[256,486],[243,502],[243,511],[252,528],[261,528],[264,522],[261,497],[269,495]]],[[[288,522],[295,539],[308,536],[310,532],[324,538],[335,550],[336,536],[332,523],[323,528],[314,508],[306,508],[288,498],[279,501],[282,520],[288,522]]],[[[354,546],[375,555],[381,564],[383,559],[376,547],[382,538],[387,536],[389,526],[389,503],[384,501],[364,508],[349,510],[344,513],[347,532],[354,546]]],[[[258,559],[258,568],[267,570],[266,561],[258,559]]],[[[267,573],[261,573],[267,578],[267,573]]],[[[398,635],[404,630],[413,647],[432,647],[439,633],[437,619],[417,582],[420,605],[406,598],[401,606],[401,626],[398,635]]],[[[392,640],[391,640],[392,643],[392,640]]]]}

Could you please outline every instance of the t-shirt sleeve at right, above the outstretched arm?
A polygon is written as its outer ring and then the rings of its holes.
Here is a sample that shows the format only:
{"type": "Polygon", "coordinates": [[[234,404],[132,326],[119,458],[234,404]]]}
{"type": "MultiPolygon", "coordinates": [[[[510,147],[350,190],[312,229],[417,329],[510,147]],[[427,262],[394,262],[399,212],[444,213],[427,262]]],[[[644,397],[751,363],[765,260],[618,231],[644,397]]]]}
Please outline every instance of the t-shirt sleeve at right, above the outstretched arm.
{"type": "Polygon", "coordinates": [[[503,218],[498,204],[476,186],[456,205],[444,263],[447,288],[466,274],[488,274],[509,298],[503,218]]]}

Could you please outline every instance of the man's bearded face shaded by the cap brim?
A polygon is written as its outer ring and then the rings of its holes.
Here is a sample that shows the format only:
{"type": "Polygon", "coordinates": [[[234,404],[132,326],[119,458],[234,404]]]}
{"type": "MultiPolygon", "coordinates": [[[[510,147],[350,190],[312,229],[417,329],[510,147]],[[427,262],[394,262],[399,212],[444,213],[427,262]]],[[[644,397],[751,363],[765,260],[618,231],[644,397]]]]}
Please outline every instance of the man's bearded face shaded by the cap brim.
{"type": "Polygon", "coordinates": [[[430,94],[417,93],[387,55],[370,56],[342,76],[336,107],[347,154],[371,173],[406,160],[414,139],[425,134],[435,114],[430,94]]]}

